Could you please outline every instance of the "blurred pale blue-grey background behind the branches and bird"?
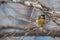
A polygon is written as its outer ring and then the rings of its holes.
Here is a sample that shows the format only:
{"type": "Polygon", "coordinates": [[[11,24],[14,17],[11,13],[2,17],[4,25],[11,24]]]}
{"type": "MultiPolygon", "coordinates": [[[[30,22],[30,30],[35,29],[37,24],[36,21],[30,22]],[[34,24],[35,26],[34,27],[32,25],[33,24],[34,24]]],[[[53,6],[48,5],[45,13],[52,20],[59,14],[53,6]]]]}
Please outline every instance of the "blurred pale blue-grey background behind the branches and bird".
{"type": "MultiPolygon", "coordinates": [[[[36,0],[29,0],[36,2],[36,0]]],[[[60,11],[60,0],[39,0],[41,3],[54,9],[60,11]]],[[[37,8],[27,8],[26,6],[20,3],[4,3],[0,4],[0,25],[4,26],[23,26],[26,27],[29,21],[30,16],[36,20],[37,16],[43,14],[43,12],[37,8]]],[[[54,22],[49,21],[46,25],[47,29],[57,28],[60,30],[60,27],[57,26],[54,22]]],[[[7,32],[13,32],[15,29],[7,29],[7,32]]],[[[2,30],[1,32],[3,32],[2,30]]],[[[23,32],[16,30],[16,32],[23,32]]],[[[23,36],[20,37],[4,37],[0,40],[21,40],[23,36]]],[[[50,37],[50,36],[25,36],[23,40],[60,40],[60,37],[50,37]]]]}

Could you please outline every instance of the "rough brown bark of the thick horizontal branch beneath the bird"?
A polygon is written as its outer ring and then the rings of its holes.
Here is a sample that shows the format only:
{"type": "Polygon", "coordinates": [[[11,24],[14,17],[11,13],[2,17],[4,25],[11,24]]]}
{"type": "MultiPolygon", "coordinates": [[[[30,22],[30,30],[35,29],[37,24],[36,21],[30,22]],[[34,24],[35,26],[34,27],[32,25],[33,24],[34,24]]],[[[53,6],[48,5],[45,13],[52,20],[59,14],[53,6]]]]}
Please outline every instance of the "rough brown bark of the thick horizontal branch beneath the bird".
{"type": "MultiPolygon", "coordinates": [[[[15,27],[3,27],[1,30],[3,30],[3,29],[16,29],[16,28],[15,27]]],[[[17,29],[21,30],[21,28],[17,28],[17,29]]],[[[6,35],[5,37],[12,36],[12,35],[13,36],[24,36],[25,33],[27,33],[27,32],[28,32],[28,34],[26,36],[52,36],[52,37],[60,37],[60,34],[59,34],[60,30],[35,29],[33,31],[31,31],[31,30],[30,31],[26,31],[25,30],[25,32],[15,32],[15,33],[14,32],[2,32],[2,33],[0,33],[0,38],[4,37],[5,35],[6,35]]]]}

